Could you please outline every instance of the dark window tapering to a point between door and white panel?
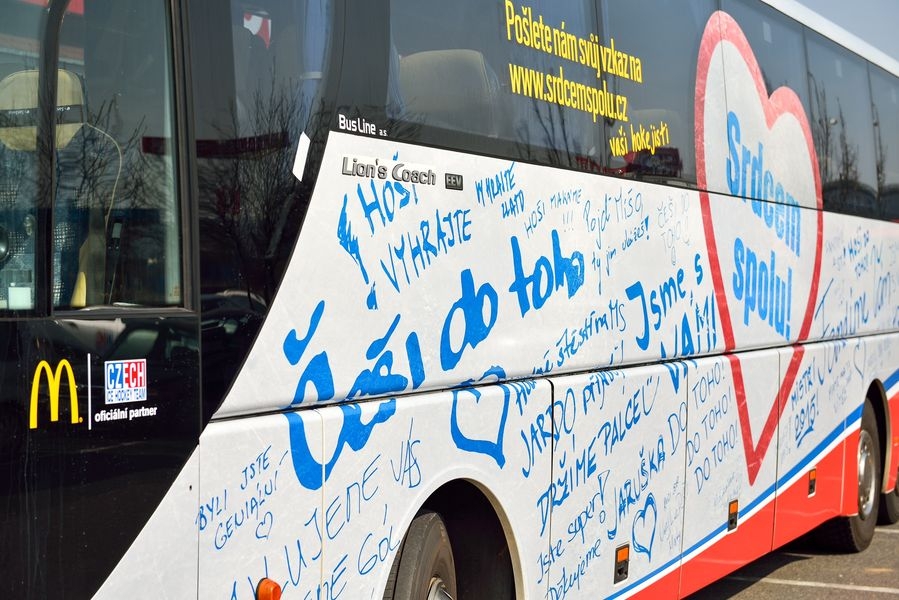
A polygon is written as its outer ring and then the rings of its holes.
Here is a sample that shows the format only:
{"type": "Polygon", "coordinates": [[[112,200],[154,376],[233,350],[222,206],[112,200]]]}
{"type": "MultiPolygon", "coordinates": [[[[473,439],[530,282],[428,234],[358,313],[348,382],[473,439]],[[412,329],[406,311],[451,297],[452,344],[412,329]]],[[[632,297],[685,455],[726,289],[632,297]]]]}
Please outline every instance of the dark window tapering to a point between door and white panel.
{"type": "Polygon", "coordinates": [[[191,0],[207,418],[286,268],[311,192],[298,148],[321,112],[331,3],[191,0]]]}

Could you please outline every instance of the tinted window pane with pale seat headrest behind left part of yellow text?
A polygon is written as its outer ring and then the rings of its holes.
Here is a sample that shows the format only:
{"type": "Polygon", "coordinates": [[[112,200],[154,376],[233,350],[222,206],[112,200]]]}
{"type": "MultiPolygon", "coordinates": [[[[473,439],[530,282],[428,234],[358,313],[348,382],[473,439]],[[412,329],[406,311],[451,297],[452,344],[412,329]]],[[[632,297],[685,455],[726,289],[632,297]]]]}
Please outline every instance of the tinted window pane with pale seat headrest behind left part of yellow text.
{"type": "Polygon", "coordinates": [[[483,151],[483,138],[494,138],[511,143],[502,153],[568,168],[599,158],[603,117],[591,94],[603,77],[574,50],[597,39],[592,2],[510,0],[485,11],[471,0],[394,0],[390,19],[388,114],[425,126],[398,127],[400,137],[445,144],[441,129],[471,133],[480,140],[461,146],[483,151]],[[555,28],[556,39],[530,39],[528,19],[555,28]]]}

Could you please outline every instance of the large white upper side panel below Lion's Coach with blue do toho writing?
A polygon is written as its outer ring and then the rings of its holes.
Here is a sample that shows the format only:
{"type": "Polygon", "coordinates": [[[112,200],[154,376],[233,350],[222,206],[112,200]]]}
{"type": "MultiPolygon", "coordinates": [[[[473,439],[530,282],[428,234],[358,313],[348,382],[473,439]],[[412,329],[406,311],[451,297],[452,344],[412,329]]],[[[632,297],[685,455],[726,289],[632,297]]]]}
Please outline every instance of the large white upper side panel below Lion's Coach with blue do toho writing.
{"type": "Polygon", "coordinates": [[[723,348],[695,191],[338,131],[321,173],[218,416],[723,348]]]}

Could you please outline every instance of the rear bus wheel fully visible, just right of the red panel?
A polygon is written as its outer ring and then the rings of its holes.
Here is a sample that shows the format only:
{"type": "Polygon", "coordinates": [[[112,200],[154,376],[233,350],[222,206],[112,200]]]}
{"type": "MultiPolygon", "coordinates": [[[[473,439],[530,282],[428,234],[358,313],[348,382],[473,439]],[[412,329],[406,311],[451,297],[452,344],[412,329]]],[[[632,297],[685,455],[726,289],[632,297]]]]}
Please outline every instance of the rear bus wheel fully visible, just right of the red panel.
{"type": "Polygon", "coordinates": [[[874,407],[865,400],[862,425],[858,435],[858,514],[837,517],[825,523],[822,541],[840,552],[861,552],[874,539],[877,526],[877,503],[880,498],[880,443],[874,407]]]}

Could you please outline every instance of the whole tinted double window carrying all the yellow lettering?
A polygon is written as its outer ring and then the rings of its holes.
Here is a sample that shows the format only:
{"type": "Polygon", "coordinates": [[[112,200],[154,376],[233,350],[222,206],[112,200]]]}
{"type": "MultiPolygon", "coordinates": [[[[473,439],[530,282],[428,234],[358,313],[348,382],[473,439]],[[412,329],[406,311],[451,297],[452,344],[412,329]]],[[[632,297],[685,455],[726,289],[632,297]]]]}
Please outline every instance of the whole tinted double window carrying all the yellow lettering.
{"type": "Polygon", "coordinates": [[[600,27],[592,2],[509,0],[485,14],[395,0],[388,113],[411,124],[397,128],[410,140],[692,183],[692,82],[713,8],[608,3],[600,27]]]}

